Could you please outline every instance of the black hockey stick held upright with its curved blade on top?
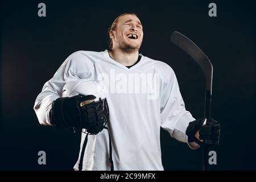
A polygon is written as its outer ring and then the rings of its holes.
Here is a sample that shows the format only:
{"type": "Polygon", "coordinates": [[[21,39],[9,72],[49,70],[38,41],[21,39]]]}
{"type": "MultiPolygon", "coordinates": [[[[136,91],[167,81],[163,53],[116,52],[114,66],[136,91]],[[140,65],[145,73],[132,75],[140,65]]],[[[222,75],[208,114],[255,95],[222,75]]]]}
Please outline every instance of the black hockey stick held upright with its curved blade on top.
{"type": "MultiPolygon", "coordinates": [[[[199,47],[196,46],[191,40],[186,36],[180,34],[179,32],[173,32],[171,35],[171,42],[174,43],[183,51],[187,52],[197,64],[201,67],[205,76],[205,110],[204,115],[207,118],[207,121],[210,119],[210,106],[212,102],[212,73],[213,67],[212,63],[208,57],[204,54],[199,47]]],[[[204,140],[203,146],[203,171],[208,171],[208,150],[209,150],[209,141],[204,140]]]]}

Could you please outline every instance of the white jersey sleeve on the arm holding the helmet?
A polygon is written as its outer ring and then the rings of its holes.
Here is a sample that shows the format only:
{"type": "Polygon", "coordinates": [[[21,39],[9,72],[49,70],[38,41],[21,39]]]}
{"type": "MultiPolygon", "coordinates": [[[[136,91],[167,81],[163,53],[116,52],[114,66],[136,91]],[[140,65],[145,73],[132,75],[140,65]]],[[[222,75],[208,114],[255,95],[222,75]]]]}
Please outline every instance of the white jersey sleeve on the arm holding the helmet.
{"type": "Polygon", "coordinates": [[[36,97],[34,110],[38,121],[41,125],[51,125],[49,118],[49,111],[52,108],[52,102],[61,97],[63,87],[69,80],[84,78],[84,74],[89,74],[90,66],[82,63],[85,61],[85,56],[79,52],[70,55],[60,68],[56,71],[55,75],[48,80],[36,97]]]}

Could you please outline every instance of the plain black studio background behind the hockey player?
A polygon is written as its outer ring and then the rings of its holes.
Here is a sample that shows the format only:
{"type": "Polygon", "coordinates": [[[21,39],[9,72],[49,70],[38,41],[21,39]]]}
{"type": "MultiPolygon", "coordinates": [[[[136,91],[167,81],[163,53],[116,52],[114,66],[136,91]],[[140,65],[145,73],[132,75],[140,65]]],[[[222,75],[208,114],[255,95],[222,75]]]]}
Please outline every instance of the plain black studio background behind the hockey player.
{"type": "MultiPolygon", "coordinates": [[[[211,18],[210,2],[2,2],[0,169],[72,170],[80,136],[40,126],[35,98],[71,53],[104,51],[114,18],[134,12],[144,30],[140,52],[174,69],[195,118],[204,114],[204,76],[170,42],[171,33],[188,36],[212,61],[212,117],[221,123],[221,141],[210,169],[255,170],[255,3],[215,1],[217,17],[211,18]],[[38,16],[40,2],[46,3],[46,17],[38,16]],[[46,151],[46,165],[38,164],[40,150],[46,151]]],[[[201,169],[201,149],[191,150],[167,131],[161,132],[161,146],[164,169],[201,169]]]]}

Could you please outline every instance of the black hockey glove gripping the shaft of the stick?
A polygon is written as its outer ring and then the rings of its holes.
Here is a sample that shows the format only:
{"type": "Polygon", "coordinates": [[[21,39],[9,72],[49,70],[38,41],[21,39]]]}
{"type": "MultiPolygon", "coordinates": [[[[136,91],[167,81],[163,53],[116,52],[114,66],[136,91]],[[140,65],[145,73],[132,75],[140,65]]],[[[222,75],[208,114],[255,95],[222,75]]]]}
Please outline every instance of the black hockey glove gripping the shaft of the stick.
{"type": "Polygon", "coordinates": [[[218,144],[220,140],[220,124],[214,119],[210,119],[206,125],[203,125],[205,118],[197,119],[189,122],[186,130],[188,135],[188,142],[196,142],[197,144],[203,144],[199,139],[204,140],[205,144],[218,144]],[[200,130],[200,131],[199,131],[200,130]],[[195,134],[199,131],[199,139],[195,137],[195,134]]]}

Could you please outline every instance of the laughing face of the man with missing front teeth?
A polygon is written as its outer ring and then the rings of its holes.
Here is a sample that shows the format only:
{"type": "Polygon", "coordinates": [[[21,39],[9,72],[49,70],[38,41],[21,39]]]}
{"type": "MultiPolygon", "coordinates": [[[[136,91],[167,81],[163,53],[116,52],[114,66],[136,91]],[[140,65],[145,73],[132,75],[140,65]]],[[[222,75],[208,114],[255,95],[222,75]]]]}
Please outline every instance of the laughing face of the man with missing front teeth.
{"type": "Polygon", "coordinates": [[[117,28],[110,32],[113,49],[120,48],[125,52],[138,51],[143,39],[141,21],[135,15],[119,17],[117,28]]]}

